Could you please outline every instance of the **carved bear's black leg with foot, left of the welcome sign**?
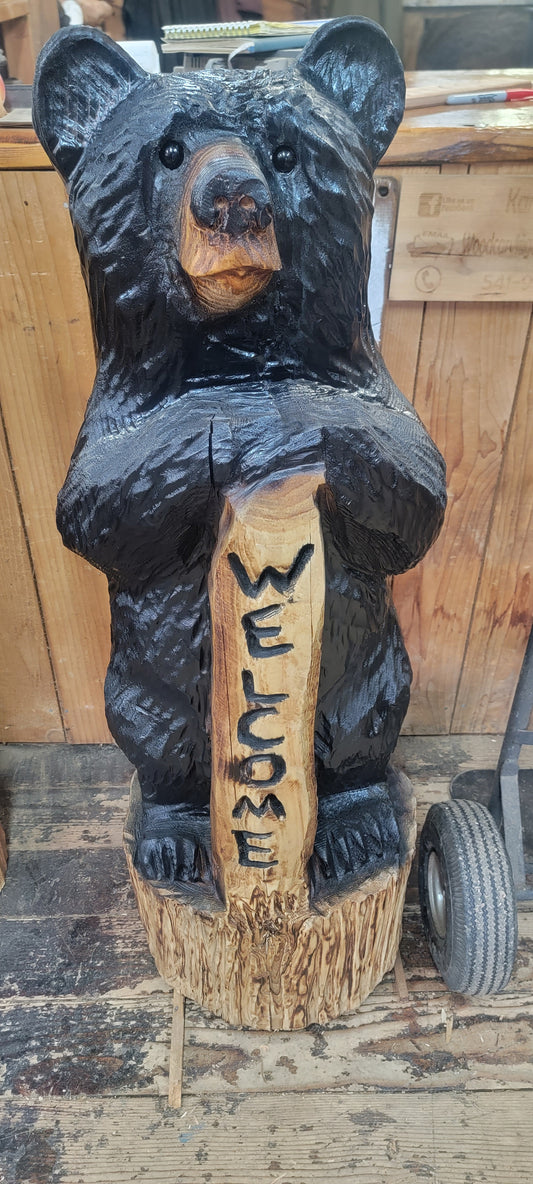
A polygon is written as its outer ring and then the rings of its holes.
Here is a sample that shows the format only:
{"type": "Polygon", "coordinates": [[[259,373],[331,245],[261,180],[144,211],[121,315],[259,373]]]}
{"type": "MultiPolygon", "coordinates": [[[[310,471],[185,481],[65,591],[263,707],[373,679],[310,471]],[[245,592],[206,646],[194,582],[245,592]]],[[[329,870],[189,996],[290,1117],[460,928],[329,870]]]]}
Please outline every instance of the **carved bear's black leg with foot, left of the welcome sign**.
{"type": "Polygon", "coordinates": [[[137,770],[135,866],[149,880],[211,877],[205,571],[200,554],[148,588],[111,592],[107,716],[137,770]]]}

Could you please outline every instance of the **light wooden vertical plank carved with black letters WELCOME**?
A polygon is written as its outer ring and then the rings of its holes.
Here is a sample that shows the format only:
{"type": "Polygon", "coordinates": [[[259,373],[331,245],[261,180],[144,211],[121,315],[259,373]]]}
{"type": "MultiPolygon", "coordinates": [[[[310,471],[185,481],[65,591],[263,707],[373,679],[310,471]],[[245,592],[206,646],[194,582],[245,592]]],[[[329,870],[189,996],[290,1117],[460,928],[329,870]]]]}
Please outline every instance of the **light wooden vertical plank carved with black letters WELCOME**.
{"type": "Polygon", "coordinates": [[[226,497],[213,558],[211,826],[217,887],[308,899],[325,564],[319,471],[226,497]],[[302,541],[303,540],[303,541],[302,541]]]}

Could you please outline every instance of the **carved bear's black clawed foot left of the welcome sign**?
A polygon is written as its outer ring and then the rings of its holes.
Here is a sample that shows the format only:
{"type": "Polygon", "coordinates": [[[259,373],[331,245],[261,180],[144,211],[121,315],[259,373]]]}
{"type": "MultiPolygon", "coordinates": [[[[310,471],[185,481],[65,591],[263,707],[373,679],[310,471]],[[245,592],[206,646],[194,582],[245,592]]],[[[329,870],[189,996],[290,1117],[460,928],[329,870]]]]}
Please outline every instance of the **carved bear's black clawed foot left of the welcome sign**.
{"type": "Polygon", "coordinates": [[[208,810],[143,804],[134,864],[147,880],[211,883],[208,810]]]}

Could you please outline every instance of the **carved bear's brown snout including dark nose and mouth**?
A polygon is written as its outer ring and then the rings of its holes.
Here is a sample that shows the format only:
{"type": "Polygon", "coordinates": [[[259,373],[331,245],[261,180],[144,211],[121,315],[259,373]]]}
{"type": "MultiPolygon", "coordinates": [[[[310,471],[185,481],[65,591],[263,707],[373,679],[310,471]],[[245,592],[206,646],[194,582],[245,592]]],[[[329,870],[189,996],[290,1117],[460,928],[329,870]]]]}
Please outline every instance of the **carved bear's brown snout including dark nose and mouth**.
{"type": "Polygon", "coordinates": [[[212,315],[243,308],[281,270],[269,187],[239,140],[204,146],[190,162],[180,264],[212,315]]]}

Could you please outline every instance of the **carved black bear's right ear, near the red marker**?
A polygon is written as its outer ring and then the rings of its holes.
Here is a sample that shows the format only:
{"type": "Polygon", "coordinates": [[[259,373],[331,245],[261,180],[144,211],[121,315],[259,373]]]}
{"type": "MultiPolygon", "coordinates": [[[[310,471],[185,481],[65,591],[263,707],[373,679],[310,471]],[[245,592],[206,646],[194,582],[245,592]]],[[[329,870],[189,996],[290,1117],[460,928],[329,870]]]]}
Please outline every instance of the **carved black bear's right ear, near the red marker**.
{"type": "Polygon", "coordinates": [[[385,31],[364,17],[322,25],[298,62],[307,82],[357,122],[375,166],[404,112],[404,69],[385,31]]]}

